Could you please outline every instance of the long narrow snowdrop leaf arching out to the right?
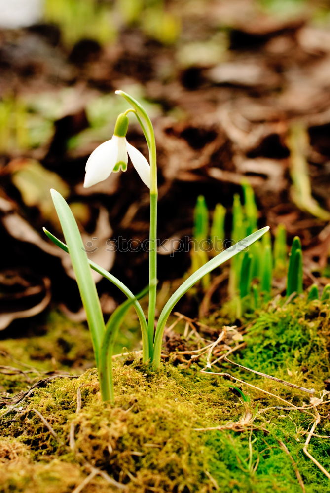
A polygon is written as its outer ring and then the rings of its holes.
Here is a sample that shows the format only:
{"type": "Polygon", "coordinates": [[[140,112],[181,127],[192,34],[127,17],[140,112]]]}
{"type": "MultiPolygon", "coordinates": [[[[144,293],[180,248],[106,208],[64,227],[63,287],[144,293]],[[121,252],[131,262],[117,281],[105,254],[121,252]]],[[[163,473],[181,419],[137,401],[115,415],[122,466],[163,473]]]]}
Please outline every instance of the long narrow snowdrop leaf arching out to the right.
{"type": "Polygon", "coordinates": [[[162,344],[162,338],[163,338],[166,321],[170,313],[172,312],[173,308],[180,300],[180,298],[194,284],[196,284],[196,282],[198,282],[203,276],[205,276],[205,274],[211,272],[213,269],[216,269],[221,264],[223,264],[223,262],[229,260],[237,253],[245,250],[245,248],[252,245],[255,241],[261,238],[261,236],[264,235],[268,230],[269,230],[268,226],[259,229],[259,231],[252,233],[252,235],[248,236],[247,238],[244,238],[237,244],[230,246],[226,250],[222,251],[216,257],[209,260],[207,264],[203,265],[203,267],[201,267],[196,272],[194,272],[191,276],[189,276],[188,279],[186,279],[183,282],[183,284],[181,284],[181,286],[172,294],[172,296],[164,306],[157,323],[155,340],[154,340],[154,357],[153,357],[153,365],[155,368],[158,368],[160,365],[161,344],[162,344]]]}

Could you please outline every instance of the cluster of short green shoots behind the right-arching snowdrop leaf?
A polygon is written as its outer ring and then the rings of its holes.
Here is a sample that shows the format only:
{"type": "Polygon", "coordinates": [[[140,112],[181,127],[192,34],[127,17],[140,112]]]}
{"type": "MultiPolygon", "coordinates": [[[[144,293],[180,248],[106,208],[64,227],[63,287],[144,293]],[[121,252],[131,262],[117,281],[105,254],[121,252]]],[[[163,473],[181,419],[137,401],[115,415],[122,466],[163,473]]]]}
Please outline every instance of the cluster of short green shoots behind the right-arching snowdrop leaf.
{"type": "MultiPolygon", "coordinates": [[[[194,233],[198,240],[198,248],[191,250],[191,269],[195,271],[232,242],[257,230],[258,210],[253,189],[249,183],[242,184],[243,203],[239,194],[234,195],[232,206],[232,227],[230,240],[226,240],[225,220],[229,215],[226,209],[217,204],[210,222],[210,212],[205,198],[197,198],[194,211],[194,233]]],[[[283,224],[279,224],[275,232],[272,246],[270,233],[249,247],[242,255],[232,258],[229,271],[228,295],[236,301],[237,316],[249,308],[253,310],[267,302],[272,296],[274,279],[286,276],[286,298],[292,299],[303,292],[303,259],[302,246],[298,236],[293,239],[291,251],[288,255],[287,233],[283,224]]],[[[202,279],[202,286],[207,289],[210,285],[210,276],[202,279]]],[[[321,299],[330,296],[330,285],[326,285],[321,299]]],[[[319,288],[313,284],[308,299],[318,299],[319,288]]]]}

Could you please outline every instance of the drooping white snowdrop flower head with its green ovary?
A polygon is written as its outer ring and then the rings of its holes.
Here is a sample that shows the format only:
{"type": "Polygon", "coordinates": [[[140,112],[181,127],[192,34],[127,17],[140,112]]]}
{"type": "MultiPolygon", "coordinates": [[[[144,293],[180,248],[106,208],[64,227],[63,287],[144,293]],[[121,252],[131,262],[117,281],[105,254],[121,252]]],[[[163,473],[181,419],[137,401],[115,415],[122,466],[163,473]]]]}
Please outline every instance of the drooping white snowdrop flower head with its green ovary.
{"type": "Polygon", "coordinates": [[[117,118],[112,139],[99,145],[88,158],[84,181],[85,188],[105,180],[112,172],[116,173],[120,169],[126,171],[127,154],[142,181],[150,188],[149,163],[138,149],[126,141],[127,128],[127,115],[121,113],[117,118]]]}

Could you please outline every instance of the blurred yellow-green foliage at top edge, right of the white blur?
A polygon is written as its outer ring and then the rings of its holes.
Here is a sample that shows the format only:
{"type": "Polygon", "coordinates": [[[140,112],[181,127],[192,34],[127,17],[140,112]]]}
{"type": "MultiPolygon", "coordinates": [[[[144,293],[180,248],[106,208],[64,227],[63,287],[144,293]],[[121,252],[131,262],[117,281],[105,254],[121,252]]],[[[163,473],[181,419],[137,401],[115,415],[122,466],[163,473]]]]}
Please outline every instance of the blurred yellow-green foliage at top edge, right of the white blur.
{"type": "Polygon", "coordinates": [[[138,25],[163,44],[180,34],[179,18],[165,8],[164,0],[46,0],[45,19],[58,24],[67,46],[83,38],[101,45],[114,42],[118,25],[138,25]]]}

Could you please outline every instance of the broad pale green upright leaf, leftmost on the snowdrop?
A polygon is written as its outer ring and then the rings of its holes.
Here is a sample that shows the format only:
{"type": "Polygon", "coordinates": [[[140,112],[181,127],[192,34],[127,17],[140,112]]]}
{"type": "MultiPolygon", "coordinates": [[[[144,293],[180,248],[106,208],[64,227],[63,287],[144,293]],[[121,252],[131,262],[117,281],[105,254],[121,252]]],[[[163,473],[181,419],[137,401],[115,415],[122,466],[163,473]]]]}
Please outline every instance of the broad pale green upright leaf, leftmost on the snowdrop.
{"type": "Polygon", "coordinates": [[[91,332],[96,364],[98,366],[100,345],[105,331],[99,296],[73,213],[60,193],[54,189],[51,189],[50,193],[68,245],[81,301],[86,311],[87,323],[91,332]]]}

